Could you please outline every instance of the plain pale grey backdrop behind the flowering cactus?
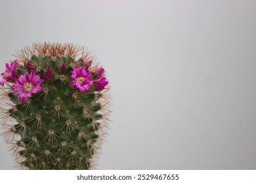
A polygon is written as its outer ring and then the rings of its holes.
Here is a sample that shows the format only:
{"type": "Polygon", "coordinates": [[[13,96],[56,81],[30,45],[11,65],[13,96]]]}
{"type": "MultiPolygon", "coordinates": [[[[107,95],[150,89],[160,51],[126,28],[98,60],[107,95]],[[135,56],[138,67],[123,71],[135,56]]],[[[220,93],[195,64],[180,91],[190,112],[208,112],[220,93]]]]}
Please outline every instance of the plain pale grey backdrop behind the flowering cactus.
{"type": "Polygon", "coordinates": [[[97,169],[256,169],[256,1],[1,0],[0,26],[1,71],[41,41],[104,65],[113,113],[97,169]]]}

